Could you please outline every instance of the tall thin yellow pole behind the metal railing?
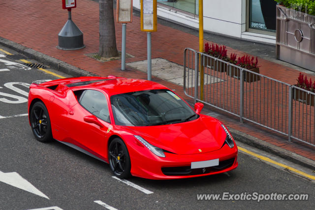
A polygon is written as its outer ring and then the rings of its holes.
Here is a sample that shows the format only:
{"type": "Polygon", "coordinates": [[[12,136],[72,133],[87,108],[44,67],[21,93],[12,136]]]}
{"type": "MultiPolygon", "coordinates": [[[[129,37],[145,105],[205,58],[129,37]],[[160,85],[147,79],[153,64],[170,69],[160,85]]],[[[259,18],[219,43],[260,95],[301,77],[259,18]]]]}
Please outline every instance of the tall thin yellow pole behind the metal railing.
{"type": "MultiPolygon", "coordinates": [[[[203,52],[203,0],[199,0],[199,52],[203,52]]],[[[200,67],[200,99],[204,100],[204,67],[201,64],[201,56],[199,57],[200,67]]]]}

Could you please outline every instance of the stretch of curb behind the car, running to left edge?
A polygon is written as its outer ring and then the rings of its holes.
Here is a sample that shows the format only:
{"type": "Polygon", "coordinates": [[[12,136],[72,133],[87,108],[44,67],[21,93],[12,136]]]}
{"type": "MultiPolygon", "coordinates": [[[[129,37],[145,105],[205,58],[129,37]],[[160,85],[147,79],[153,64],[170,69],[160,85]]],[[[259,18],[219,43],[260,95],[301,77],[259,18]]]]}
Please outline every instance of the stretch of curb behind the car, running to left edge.
{"type": "Polygon", "coordinates": [[[41,52],[37,52],[31,48],[25,47],[21,44],[15,43],[14,41],[8,40],[6,38],[0,37],[0,44],[10,49],[21,53],[30,59],[34,59],[38,62],[45,63],[52,69],[60,70],[64,73],[71,74],[73,76],[98,76],[97,74],[91,73],[86,70],[82,70],[70,64],[64,63],[61,60],[45,55],[41,52]]]}

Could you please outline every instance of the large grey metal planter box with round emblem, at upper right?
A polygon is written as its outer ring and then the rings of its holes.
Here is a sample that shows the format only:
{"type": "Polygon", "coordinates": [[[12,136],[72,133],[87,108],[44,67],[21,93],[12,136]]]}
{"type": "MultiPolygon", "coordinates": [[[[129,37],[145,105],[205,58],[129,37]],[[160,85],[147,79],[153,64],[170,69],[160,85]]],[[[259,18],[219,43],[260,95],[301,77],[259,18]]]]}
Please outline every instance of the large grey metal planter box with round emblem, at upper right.
{"type": "Polygon", "coordinates": [[[277,59],[315,71],[315,16],[277,5],[277,59]]]}

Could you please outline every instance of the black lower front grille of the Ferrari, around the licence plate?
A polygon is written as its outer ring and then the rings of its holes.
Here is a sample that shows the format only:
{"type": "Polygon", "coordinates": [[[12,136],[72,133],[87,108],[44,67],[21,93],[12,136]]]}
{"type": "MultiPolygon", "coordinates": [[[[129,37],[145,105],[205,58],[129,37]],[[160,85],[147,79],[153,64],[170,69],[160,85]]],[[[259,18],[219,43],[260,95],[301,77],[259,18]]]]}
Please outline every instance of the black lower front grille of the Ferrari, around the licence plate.
{"type": "Polygon", "coordinates": [[[202,175],[209,174],[213,172],[218,172],[224,169],[231,167],[234,163],[235,158],[228,160],[223,160],[219,162],[218,166],[200,168],[200,169],[191,169],[190,166],[181,166],[181,167],[164,167],[162,168],[162,173],[164,175],[202,175]]]}

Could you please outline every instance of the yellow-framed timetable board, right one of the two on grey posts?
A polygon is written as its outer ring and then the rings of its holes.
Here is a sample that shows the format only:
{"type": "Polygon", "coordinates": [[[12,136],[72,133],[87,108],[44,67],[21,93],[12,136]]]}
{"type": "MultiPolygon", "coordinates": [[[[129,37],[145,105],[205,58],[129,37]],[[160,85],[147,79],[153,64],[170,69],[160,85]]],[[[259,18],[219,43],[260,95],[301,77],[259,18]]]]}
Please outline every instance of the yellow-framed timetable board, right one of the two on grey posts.
{"type": "Polygon", "coordinates": [[[141,31],[157,31],[157,0],[141,0],[141,31]]]}

